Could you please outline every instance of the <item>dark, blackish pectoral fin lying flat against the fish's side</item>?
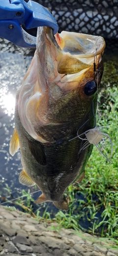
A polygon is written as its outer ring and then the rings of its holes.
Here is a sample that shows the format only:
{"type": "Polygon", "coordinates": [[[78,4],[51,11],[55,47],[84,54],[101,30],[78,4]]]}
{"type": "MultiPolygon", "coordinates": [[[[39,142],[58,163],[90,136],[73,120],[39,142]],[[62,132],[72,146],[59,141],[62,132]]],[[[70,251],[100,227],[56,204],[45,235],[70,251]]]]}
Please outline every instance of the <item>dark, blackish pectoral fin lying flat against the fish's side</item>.
{"type": "Polygon", "coordinates": [[[28,141],[29,150],[33,158],[40,164],[40,165],[47,165],[46,162],[46,155],[44,152],[43,145],[38,141],[28,141]]]}

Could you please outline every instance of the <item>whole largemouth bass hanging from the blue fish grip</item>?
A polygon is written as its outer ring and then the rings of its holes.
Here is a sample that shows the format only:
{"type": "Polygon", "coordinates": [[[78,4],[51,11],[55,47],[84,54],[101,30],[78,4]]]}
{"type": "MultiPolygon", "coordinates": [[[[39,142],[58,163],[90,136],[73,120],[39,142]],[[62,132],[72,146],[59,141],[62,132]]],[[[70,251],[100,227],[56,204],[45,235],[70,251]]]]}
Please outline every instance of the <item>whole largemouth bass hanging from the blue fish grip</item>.
{"type": "Polygon", "coordinates": [[[21,151],[19,181],[36,184],[36,203],[68,209],[63,193],[84,177],[93,145],[81,150],[77,131],[95,126],[105,41],[100,36],[39,27],[36,52],[17,90],[10,154],[21,151]]]}

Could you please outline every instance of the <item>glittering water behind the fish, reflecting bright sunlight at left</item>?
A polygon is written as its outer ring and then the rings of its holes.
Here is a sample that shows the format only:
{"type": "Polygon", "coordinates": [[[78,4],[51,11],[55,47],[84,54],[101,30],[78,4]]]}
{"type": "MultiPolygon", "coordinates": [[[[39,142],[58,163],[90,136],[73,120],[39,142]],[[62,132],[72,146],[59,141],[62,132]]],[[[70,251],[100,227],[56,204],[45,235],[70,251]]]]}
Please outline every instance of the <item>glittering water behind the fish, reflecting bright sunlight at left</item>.
{"type": "MultiPolygon", "coordinates": [[[[16,90],[22,83],[34,50],[16,47],[3,39],[0,39],[0,48],[0,203],[3,203],[6,198],[10,200],[19,197],[22,195],[22,190],[27,192],[29,190],[18,180],[19,173],[22,170],[20,151],[12,157],[9,154],[9,142],[14,128],[16,90]]],[[[114,47],[112,49],[112,52],[106,50],[105,61],[116,57],[114,47]]],[[[37,190],[36,187],[30,188],[30,192],[37,190]]],[[[36,199],[40,194],[41,192],[33,194],[33,198],[36,199]]],[[[82,194],[78,193],[76,196],[85,199],[82,194]]],[[[58,212],[58,209],[52,203],[45,203],[38,207],[33,202],[31,204],[35,210],[39,208],[41,215],[43,215],[47,205],[52,218],[58,212]]],[[[4,205],[13,206],[14,203],[6,202],[4,205]]],[[[16,206],[16,208],[21,210],[19,206],[16,206]]],[[[77,214],[76,211],[75,214],[77,214]]],[[[100,214],[97,217],[101,221],[100,214]]],[[[85,228],[89,227],[87,220],[84,223],[83,220],[80,220],[80,224],[85,228]]]]}

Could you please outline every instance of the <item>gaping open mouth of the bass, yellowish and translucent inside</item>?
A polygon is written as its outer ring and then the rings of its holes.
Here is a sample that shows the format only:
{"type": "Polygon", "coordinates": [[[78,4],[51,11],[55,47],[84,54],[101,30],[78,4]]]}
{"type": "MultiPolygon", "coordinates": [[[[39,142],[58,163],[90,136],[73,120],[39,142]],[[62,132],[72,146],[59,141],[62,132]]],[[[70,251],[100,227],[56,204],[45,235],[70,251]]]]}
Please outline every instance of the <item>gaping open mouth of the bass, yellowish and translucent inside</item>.
{"type": "MultiPolygon", "coordinates": [[[[75,74],[88,69],[93,63],[97,65],[105,49],[101,36],[62,31],[55,35],[62,50],[58,63],[60,74],[75,74]]],[[[82,74],[83,72],[81,72],[82,74]]]]}

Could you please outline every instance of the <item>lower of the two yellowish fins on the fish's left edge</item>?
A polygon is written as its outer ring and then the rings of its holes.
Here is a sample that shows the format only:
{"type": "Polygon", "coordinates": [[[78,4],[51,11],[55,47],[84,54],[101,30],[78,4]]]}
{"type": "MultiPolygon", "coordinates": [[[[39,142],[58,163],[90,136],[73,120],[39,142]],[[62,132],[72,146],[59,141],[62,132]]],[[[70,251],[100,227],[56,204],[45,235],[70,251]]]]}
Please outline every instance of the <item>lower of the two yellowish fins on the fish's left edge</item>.
{"type": "Polygon", "coordinates": [[[19,174],[19,182],[28,187],[34,186],[35,182],[31,180],[27,172],[23,169],[23,171],[19,174]]]}

